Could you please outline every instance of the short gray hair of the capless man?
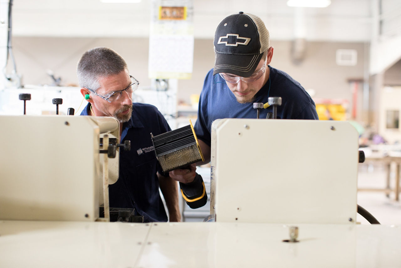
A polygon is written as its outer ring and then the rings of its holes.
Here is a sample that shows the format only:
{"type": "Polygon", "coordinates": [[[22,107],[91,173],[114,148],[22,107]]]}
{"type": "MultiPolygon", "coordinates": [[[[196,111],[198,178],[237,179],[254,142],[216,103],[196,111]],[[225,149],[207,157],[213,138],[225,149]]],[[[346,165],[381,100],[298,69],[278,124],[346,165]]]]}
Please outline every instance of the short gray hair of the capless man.
{"type": "Polygon", "coordinates": [[[128,70],[125,60],[113,49],[95,47],[83,53],[77,64],[79,86],[97,90],[99,78],[128,70]]]}

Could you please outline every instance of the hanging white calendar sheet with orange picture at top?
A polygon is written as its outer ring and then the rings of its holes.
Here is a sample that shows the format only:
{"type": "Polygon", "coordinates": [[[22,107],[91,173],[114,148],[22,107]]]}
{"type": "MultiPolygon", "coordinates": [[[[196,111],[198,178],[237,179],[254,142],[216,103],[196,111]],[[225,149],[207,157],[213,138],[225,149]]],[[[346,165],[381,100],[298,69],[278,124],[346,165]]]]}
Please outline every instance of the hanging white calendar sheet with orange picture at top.
{"type": "Polygon", "coordinates": [[[149,78],[190,79],[194,56],[193,0],[154,0],[149,78]]]}

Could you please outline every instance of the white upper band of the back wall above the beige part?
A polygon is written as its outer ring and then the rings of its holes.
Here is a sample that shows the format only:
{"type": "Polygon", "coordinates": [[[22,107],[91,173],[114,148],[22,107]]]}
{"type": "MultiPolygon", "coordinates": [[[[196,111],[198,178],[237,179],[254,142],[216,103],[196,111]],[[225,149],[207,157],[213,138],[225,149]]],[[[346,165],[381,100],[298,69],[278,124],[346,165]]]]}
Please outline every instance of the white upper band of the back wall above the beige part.
{"type": "MultiPolygon", "coordinates": [[[[399,0],[389,0],[389,2],[399,0]]],[[[160,1],[159,1],[160,2],[160,1]]],[[[174,1],[173,1],[174,2],[174,1]]],[[[180,1],[175,1],[180,2],[180,1]]],[[[181,0],[181,2],[191,2],[181,0]]],[[[195,38],[213,38],[227,14],[244,11],[260,16],[271,39],[366,42],[372,36],[374,0],[332,0],[327,8],[297,8],[286,0],[193,0],[195,38]]],[[[156,1],[110,4],[100,0],[14,0],[13,36],[148,37],[156,1]]],[[[399,4],[398,4],[399,6],[399,4]]],[[[399,9],[401,10],[401,8],[399,9]]]]}

